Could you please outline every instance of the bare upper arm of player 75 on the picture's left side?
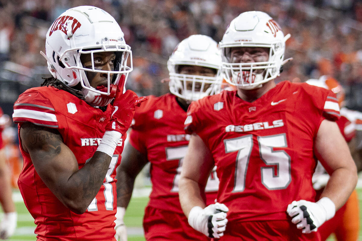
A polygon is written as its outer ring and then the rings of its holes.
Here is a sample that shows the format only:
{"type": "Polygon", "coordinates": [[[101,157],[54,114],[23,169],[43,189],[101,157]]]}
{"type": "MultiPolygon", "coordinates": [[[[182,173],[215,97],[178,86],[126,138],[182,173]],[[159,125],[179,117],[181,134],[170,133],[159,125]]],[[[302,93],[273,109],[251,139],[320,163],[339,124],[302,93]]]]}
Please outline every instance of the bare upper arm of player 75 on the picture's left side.
{"type": "Polygon", "coordinates": [[[211,169],[214,167],[211,151],[197,134],[191,134],[188,150],[182,163],[181,178],[188,178],[206,185],[211,169]]]}

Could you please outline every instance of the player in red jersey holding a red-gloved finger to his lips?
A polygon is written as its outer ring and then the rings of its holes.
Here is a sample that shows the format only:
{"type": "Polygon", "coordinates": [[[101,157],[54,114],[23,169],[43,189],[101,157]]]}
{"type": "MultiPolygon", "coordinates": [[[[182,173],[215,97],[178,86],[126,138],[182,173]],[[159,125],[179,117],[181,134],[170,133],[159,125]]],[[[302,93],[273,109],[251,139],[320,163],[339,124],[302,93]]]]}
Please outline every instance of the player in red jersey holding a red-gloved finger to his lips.
{"type": "Polygon", "coordinates": [[[37,240],[115,240],[115,170],[143,100],[123,93],[130,47],[109,13],[80,6],[55,20],[45,49],[52,77],[22,93],[13,113],[18,186],[37,240]]]}

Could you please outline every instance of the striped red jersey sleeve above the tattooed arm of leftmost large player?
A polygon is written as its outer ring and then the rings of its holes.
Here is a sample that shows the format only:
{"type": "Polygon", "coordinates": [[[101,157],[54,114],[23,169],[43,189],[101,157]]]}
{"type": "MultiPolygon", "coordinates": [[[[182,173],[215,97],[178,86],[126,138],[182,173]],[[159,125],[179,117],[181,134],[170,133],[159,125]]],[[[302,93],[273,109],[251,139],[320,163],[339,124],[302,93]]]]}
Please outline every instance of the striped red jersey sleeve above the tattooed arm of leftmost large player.
{"type": "Polygon", "coordinates": [[[15,123],[31,122],[35,125],[58,128],[58,120],[51,101],[37,91],[26,91],[14,103],[15,123]]]}

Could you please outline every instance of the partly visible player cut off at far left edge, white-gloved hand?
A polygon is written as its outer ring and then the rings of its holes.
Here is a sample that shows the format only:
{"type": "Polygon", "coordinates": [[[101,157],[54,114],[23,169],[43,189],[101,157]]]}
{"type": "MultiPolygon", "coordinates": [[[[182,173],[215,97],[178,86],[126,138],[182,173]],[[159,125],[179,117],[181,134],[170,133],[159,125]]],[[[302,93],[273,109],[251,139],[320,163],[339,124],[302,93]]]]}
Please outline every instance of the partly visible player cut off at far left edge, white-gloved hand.
{"type": "Polygon", "coordinates": [[[8,239],[12,236],[17,226],[17,213],[12,199],[9,164],[7,163],[4,142],[1,136],[4,128],[9,125],[10,117],[4,115],[3,110],[0,108],[0,203],[4,211],[0,223],[0,239],[8,239]]]}

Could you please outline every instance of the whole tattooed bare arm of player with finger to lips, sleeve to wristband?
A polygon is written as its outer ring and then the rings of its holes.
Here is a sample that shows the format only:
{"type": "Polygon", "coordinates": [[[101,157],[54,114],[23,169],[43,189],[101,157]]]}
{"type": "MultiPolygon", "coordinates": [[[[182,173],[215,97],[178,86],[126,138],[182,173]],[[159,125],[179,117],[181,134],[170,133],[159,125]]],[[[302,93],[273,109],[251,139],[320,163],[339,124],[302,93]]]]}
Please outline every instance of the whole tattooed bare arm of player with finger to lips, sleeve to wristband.
{"type": "Polygon", "coordinates": [[[31,123],[22,124],[20,141],[52,193],[73,212],[85,212],[103,183],[111,157],[96,151],[79,169],[75,155],[56,129],[31,123]]]}

